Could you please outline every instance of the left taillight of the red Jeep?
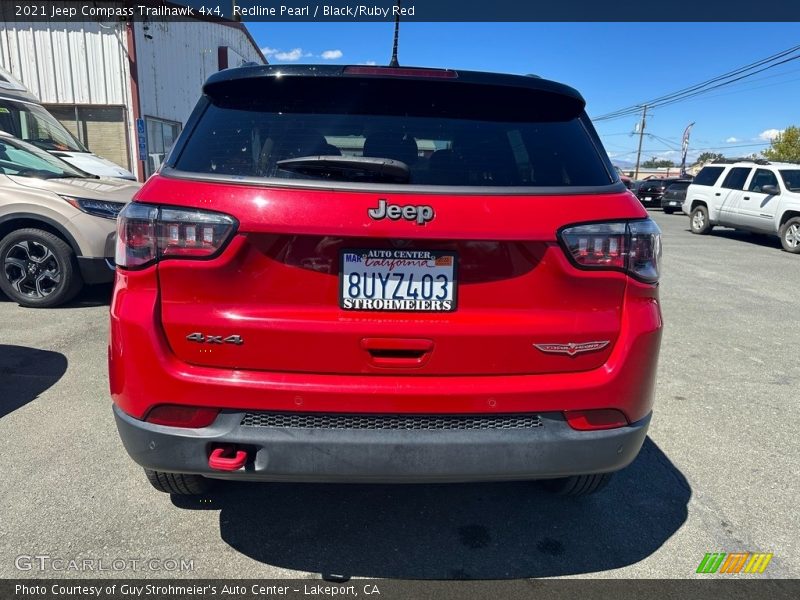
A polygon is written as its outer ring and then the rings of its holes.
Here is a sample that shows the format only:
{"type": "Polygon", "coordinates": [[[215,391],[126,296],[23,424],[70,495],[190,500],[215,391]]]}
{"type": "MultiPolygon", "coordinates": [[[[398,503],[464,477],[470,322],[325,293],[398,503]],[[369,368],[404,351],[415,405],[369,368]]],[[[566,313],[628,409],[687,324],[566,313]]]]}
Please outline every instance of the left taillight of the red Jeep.
{"type": "Polygon", "coordinates": [[[221,213],[132,202],[117,219],[117,266],[137,269],[163,258],[210,258],[235,228],[236,220],[221,213]]]}

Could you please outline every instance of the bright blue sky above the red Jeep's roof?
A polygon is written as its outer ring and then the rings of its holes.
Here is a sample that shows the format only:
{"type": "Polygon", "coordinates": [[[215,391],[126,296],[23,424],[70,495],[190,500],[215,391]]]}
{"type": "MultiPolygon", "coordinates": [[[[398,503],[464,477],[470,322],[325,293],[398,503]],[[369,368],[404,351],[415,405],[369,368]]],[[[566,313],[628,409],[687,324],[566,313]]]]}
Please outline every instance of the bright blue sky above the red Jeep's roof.
{"type": "MultiPolygon", "coordinates": [[[[247,23],[274,64],[387,64],[391,23],[247,23]]],[[[400,64],[536,73],[577,88],[590,116],[638,104],[800,43],[797,23],[401,23],[400,64]]],[[[617,162],[635,160],[636,117],[597,123],[617,162]]],[[[800,60],[648,117],[644,157],[743,156],[800,125],[800,60]]]]}

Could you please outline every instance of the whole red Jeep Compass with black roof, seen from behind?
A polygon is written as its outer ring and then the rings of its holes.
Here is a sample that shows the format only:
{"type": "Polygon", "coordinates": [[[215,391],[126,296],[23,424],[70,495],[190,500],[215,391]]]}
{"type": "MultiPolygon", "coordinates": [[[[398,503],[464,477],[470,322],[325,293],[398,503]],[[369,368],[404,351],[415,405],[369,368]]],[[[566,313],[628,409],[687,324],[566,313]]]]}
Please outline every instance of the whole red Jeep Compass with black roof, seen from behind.
{"type": "Polygon", "coordinates": [[[109,368],[155,487],[547,479],[634,459],[660,232],[535,77],[213,75],[118,223],[109,368]]]}

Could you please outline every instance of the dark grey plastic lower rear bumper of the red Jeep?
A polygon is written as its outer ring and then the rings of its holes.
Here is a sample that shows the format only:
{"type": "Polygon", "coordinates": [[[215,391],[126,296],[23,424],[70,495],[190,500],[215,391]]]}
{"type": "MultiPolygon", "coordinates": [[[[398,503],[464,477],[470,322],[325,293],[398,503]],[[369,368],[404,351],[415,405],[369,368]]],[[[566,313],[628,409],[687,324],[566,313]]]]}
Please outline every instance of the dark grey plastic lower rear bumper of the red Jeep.
{"type": "Polygon", "coordinates": [[[220,414],[209,427],[145,423],[114,406],[125,449],[145,468],[223,479],[316,482],[458,482],[547,479],[605,473],[628,465],[651,415],[627,427],[575,431],[558,413],[520,429],[374,430],[251,427],[243,412],[220,414]],[[232,472],[208,466],[211,450],[248,452],[232,472]]]}

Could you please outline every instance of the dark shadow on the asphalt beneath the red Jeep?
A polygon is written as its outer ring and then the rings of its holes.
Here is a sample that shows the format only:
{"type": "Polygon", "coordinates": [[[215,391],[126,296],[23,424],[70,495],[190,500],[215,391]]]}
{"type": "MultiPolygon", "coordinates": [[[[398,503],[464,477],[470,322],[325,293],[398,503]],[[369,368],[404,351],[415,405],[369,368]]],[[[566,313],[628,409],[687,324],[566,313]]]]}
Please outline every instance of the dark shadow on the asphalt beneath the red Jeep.
{"type": "Polygon", "coordinates": [[[686,520],[691,488],[648,437],[586,498],[535,482],[231,483],[184,509],[219,510],[220,535],[263,563],[342,577],[513,579],[636,563],[686,520]]]}

